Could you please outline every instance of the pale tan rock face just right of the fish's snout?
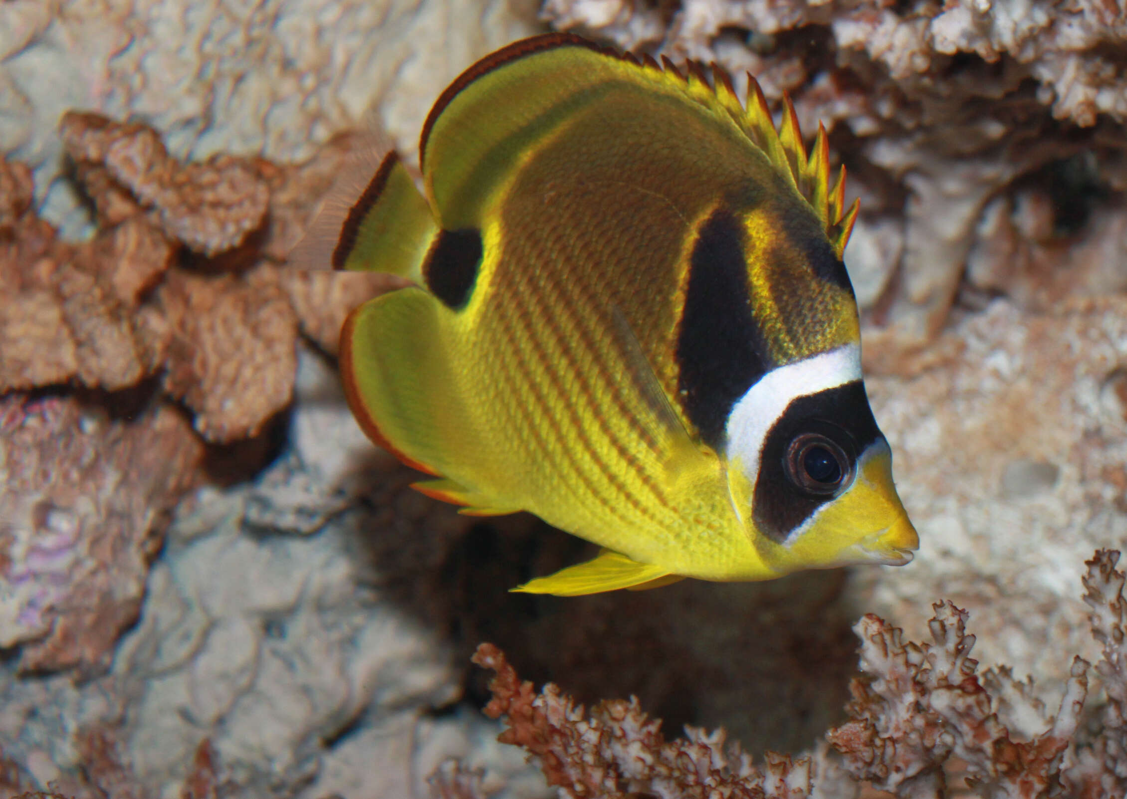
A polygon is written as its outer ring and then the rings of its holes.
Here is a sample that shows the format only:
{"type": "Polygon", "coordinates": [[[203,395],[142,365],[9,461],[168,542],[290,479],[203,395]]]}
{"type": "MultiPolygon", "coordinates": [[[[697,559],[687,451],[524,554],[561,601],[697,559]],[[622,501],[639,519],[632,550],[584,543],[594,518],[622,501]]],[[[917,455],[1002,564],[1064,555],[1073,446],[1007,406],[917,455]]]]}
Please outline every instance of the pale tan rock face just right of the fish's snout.
{"type": "Polygon", "coordinates": [[[1022,313],[999,301],[944,334],[914,379],[869,379],[915,562],[857,570],[866,610],[919,634],[938,597],[970,612],[976,657],[1063,686],[1092,659],[1084,560],[1127,540],[1127,299],[1022,313]]]}

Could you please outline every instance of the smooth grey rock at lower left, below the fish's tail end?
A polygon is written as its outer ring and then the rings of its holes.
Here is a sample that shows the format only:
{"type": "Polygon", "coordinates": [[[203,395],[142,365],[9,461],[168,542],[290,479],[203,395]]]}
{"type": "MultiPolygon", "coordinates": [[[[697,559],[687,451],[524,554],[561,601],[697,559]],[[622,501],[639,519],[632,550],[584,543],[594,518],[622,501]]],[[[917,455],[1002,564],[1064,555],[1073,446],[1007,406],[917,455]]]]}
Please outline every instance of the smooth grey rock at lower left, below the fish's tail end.
{"type": "Polygon", "coordinates": [[[543,794],[515,749],[489,754],[495,725],[424,718],[456,701],[467,667],[447,620],[411,596],[438,593],[467,520],[406,490],[407,470],[367,444],[320,356],[307,353],[298,385],[292,446],[263,478],[181,507],[108,674],[76,685],[0,667],[0,746],[20,790],[179,796],[207,742],[225,794],[425,797],[438,763],[476,752],[504,766],[495,783],[517,775],[511,796],[543,794]]]}

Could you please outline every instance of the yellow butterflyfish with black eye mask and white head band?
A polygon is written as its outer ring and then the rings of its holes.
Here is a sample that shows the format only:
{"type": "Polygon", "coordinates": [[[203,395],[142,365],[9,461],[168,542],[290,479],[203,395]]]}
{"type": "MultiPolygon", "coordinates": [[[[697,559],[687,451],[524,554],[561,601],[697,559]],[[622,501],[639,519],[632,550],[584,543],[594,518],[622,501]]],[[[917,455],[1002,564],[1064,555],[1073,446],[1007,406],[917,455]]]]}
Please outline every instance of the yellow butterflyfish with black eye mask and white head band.
{"type": "Polygon", "coordinates": [[[334,266],[417,285],[341,334],[369,435],[464,513],[603,547],[521,591],[904,563],[917,538],[869,409],[841,260],[857,205],[713,68],[577,36],[471,66],[390,153],[334,266]]]}

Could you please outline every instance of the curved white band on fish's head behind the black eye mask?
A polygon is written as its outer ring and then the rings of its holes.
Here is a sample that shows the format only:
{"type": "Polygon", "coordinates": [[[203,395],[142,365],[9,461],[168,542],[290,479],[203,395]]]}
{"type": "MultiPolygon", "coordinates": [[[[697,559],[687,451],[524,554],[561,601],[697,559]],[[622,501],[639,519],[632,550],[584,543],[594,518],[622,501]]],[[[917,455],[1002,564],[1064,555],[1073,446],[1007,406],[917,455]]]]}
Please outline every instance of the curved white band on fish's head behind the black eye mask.
{"type": "Polygon", "coordinates": [[[754,483],[763,441],[787,407],[799,397],[861,379],[861,347],[846,344],[771,370],[739,398],[728,415],[728,460],[739,459],[754,483]]]}

